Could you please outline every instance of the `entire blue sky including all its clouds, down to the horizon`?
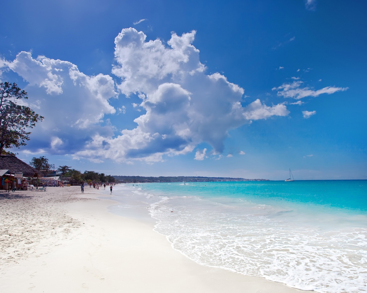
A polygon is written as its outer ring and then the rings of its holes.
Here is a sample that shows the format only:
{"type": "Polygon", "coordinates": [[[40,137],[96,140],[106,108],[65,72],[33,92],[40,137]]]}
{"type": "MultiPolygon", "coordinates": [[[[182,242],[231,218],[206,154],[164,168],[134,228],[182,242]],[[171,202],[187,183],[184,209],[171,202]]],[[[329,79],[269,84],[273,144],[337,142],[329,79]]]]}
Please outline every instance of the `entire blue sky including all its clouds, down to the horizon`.
{"type": "Polygon", "coordinates": [[[8,1],[25,162],[114,175],[367,179],[363,1],[8,1]]]}

